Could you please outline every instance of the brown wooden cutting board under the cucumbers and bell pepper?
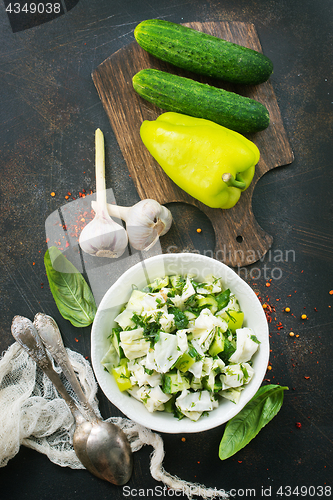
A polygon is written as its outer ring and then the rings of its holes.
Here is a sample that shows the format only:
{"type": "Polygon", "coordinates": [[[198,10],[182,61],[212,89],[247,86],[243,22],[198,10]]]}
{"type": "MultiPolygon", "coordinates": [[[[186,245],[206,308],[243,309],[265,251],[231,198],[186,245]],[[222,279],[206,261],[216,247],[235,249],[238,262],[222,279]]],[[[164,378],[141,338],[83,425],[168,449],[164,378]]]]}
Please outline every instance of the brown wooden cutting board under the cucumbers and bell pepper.
{"type": "MultiPolygon", "coordinates": [[[[262,52],[253,24],[192,22],[186,26],[262,52]]],[[[93,72],[92,78],[140,198],[154,198],[161,204],[185,202],[199,207],[208,216],[215,231],[215,258],[231,266],[246,266],[259,260],[271,247],[273,238],[255,220],[252,211],[253,190],[265,172],[293,161],[293,152],[271,83],[233,86],[200,77],[157,60],[141,49],[136,41],[106,59],[93,72]],[[212,209],[189,196],[167,177],[143,145],[139,133],[143,120],[155,120],[163,112],[133,90],[132,77],[144,68],[161,69],[220,86],[256,99],[267,107],[269,127],[248,135],[261,153],[254,180],[232,209],[212,209]]]]}

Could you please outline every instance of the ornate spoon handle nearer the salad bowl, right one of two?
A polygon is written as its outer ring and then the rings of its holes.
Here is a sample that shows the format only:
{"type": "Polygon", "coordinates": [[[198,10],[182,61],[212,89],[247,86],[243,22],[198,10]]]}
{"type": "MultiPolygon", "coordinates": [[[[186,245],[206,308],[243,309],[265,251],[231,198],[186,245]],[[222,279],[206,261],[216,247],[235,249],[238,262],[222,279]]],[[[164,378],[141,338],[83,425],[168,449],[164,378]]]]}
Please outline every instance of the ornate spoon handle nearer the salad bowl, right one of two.
{"type": "Polygon", "coordinates": [[[52,354],[53,358],[61,367],[68,382],[71,384],[72,389],[75,392],[85,415],[91,421],[97,420],[97,416],[91,405],[89,404],[88,399],[77,379],[77,376],[75,375],[73,366],[69,360],[67,351],[63,344],[61,333],[57,323],[53,318],[51,318],[51,316],[47,316],[43,313],[37,313],[34,318],[33,324],[36,327],[38,334],[43,341],[43,344],[52,354]]]}

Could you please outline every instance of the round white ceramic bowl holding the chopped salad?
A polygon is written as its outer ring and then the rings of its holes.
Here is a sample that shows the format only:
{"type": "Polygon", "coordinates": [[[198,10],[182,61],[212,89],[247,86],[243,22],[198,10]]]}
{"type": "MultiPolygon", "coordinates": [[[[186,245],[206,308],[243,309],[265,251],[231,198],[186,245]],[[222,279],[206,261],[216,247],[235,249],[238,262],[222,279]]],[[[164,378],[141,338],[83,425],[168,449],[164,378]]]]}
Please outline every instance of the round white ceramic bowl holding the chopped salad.
{"type": "Polygon", "coordinates": [[[234,417],[254,396],[266,373],[269,361],[269,335],[266,316],[251,287],[225,264],[194,253],[162,254],[137,263],[126,271],[104,295],[92,326],[91,333],[92,365],[97,381],[106,397],[128,418],[158,432],[192,433],[217,427],[234,417]],[[197,422],[188,418],[178,420],[166,412],[149,413],[145,406],[120,392],[117,384],[102,366],[101,359],[108,350],[107,337],[115,326],[114,318],[121,307],[128,301],[133,287],[141,290],[157,277],[172,274],[195,274],[198,280],[204,280],[208,274],[222,278],[225,288],[235,293],[244,312],[244,325],[251,328],[260,340],[258,351],[253,356],[255,375],[245,386],[240,401],[234,404],[221,398],[218,408],[202,416],[197,422]]]}

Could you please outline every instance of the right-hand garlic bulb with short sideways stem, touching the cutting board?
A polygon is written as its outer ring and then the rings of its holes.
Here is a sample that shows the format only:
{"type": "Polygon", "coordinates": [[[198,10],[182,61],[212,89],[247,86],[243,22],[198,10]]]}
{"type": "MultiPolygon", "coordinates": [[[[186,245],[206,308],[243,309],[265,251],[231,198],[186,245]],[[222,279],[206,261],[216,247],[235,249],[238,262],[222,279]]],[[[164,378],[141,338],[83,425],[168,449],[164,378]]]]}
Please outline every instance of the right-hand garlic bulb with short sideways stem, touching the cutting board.
{"type": "MultiPolygon", "coordinates": [[[[95,207],[94,202],[92,207],[95,207]]],[[[141,200],[132,207],[108,204],[107,208],[109,215],[126,222],[129,242],[136,250],[149,250],[172,224],[170,210],[156,200],[141,200]]]]}

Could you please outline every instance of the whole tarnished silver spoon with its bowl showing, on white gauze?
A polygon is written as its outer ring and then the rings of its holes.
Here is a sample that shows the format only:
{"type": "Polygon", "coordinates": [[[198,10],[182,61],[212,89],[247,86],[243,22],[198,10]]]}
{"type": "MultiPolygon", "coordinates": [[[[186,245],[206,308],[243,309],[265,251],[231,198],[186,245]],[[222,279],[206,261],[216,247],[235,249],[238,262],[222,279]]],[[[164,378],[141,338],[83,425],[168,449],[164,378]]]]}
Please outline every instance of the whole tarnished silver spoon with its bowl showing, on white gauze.
{"type": "Polygon", "coordinates": [[[100,479],[116,485],[125,484],[131,477],[133,462],[130,444],[124,432],[116,425],[97,418],[93,410],[90,412],[89,404],[85,407],[88,408],[85,411],[88,412],[89,419],[83,416],[54,370],[32,321],[15,316],[12,335],[50,378],[68,404],[76,424],[74,450],[84,467],[100,479]]]}

